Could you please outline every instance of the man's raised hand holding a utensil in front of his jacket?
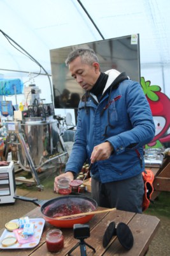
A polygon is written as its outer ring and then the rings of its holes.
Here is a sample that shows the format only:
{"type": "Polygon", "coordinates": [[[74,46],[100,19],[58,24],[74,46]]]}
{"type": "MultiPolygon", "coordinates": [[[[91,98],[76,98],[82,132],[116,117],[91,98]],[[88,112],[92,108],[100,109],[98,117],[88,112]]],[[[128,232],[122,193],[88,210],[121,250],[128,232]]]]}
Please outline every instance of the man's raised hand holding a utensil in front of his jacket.
{"type": "Polygon", "coordinates": [[[91,163],[108,159],[112,152],[113,147],[109,141],[97,145],[96,147],[94,147],[94,150],[90,157],[91,163]]]}

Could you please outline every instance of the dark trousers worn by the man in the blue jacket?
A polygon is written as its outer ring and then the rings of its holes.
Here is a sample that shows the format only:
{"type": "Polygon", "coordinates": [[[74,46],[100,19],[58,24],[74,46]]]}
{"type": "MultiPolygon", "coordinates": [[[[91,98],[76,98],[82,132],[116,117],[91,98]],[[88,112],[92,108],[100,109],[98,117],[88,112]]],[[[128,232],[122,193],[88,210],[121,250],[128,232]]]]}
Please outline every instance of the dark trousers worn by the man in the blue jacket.
{"type": "Polygon", "coordinates": [[[142,212],[144,182],[142,174],[130,179],[102,184],[92,179],[92,198],[101,207],[129,212],[142,212]]]}

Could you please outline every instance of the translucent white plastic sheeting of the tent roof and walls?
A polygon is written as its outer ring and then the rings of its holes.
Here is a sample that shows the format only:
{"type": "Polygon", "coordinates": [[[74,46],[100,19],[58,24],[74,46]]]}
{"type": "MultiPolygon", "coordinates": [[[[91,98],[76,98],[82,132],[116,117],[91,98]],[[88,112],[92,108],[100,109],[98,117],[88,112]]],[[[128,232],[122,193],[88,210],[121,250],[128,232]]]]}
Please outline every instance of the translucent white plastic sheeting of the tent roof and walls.
{"type": "MultiPolygon", "coordinates": [[[[101,34],[77,0],[0,0],[0,29],[29,52],[48,74],[51,74],[50,49],[139,33],[141,76],[170,96],[170,1],[81,0],[81,3],[101,34]]],[[[0,33],[0,78],[18,77],[25,82],[29,72],[39,73],[40,68],[11,44],[0,33]]],[[[48,79],[38,76],[35,83],[49,102],[48,79]]]]}

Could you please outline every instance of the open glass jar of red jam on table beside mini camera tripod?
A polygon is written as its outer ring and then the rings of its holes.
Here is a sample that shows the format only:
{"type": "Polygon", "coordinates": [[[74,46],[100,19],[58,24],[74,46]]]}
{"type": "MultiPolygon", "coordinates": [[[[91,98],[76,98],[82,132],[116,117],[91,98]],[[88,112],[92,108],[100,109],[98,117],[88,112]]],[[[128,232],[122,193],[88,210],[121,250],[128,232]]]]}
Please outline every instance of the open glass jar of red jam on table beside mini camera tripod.
{"type": "Polygon", "coordinates": [[[64,237],[59,229],[52,229],[46,233],[46,247],[49,252],[59,252],[64,248],[64,237]]]}

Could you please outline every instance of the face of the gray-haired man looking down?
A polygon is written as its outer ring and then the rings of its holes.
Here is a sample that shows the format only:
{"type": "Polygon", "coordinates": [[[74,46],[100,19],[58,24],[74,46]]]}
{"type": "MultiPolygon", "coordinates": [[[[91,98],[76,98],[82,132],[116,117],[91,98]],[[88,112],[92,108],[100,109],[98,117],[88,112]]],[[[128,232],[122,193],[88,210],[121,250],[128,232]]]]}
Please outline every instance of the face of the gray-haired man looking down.
{"type": "Polygon", "coordinates": [[[77,83],[87,91],[92,89],[100,75],[99,63],[94,62],[92,65],[85,64],[81,62],[80,57],[69,63],[69,70],[71,76],[76,79],[77,83]]]}

